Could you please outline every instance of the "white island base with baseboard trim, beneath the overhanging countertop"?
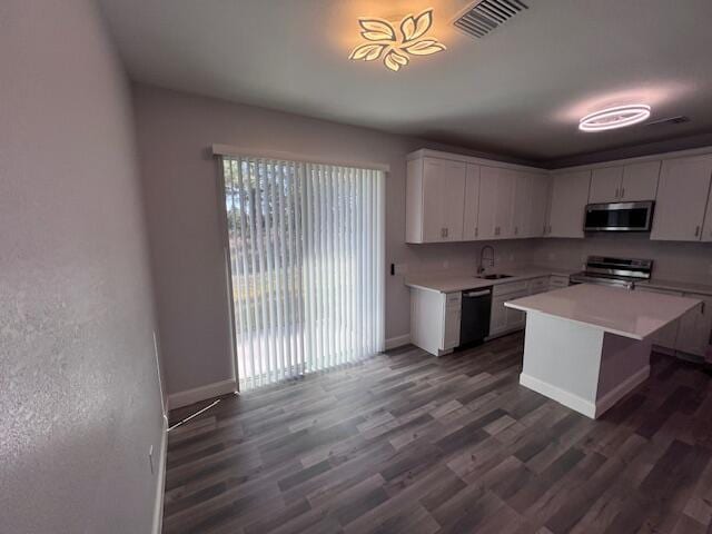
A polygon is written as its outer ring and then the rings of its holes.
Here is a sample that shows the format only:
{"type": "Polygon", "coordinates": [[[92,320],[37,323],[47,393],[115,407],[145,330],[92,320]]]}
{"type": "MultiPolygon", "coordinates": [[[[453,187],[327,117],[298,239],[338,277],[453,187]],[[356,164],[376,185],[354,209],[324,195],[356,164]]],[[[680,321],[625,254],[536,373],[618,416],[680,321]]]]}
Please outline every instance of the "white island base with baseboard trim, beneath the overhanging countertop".
{"type": "Polygon", "coordinates": [[[530,312],[520,384],[596,418],[645,382],[650,353],[647,340],[530,312]]]}

